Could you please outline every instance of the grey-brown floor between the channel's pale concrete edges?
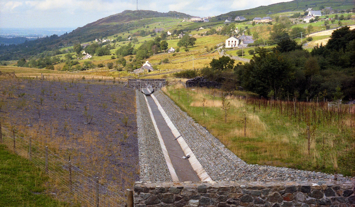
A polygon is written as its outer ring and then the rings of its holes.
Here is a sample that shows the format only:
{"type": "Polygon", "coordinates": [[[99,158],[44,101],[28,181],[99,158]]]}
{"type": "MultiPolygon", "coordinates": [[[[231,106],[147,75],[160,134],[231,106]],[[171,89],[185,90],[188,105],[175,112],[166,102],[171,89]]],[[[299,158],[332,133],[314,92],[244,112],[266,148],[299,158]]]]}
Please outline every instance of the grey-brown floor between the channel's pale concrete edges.
{"type": "Polygon", "coordinates": [[[183,159],[185,156],[180,144],[171,132],[169,126],[166,124],[162,114],[160,113],[157,104],[155,104],[151,96],[146,96],[148,103],[151,107],[155,121],[157,122],[158,129],[164,140],[166,149],[169,153],[171,163],[174,166],[175,173],[179,178],[179,181],[201,181],[195,170],[192,169],[189,160],[183,159]]]}

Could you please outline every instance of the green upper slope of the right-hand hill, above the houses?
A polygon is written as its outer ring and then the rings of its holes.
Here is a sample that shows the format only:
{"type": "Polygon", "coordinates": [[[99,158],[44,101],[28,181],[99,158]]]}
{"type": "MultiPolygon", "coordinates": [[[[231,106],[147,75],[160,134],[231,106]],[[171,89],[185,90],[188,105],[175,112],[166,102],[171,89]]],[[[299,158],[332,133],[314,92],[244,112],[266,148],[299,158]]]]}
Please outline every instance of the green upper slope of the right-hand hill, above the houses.
{"type": "Polygon", "coordinates": [[[225,20],[226,18],[235,18],[236,16],[244,16],[245,18],[273,16],[276,13],[304,11],[309,7],[318,9],[320,6],[332,7],[336,10],[347,10],[354,8],[353,0],[294,0],[289,2],[280,2],[268,6],[259,6],[253,9],[240,11],[231,11],[214,17],[211,21],[225,20]]]}

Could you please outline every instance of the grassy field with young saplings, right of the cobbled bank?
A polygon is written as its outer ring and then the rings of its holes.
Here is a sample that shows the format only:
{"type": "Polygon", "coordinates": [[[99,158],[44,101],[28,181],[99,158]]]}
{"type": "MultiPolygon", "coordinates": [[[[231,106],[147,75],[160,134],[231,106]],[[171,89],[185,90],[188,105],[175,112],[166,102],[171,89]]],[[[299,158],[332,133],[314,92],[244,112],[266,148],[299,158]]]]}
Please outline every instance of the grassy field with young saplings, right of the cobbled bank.
{"type": "MultiPolygon", "coordinates": [[[[227,121],[222,110],[220,92],[208,89],[189,90],[180,87],[178,93],[170,86],[163,91],[193,119],[217,137],[238,157],[251,164],[290,167],[310,171],[338,172],[355,176],[354,121],[349,113],[338,122],[334,117],[329,125],[307,122],[311,125],[310,155],[307,153],[306,121],[280,114],[279,109],[257,107],[244,99],[227,97],[227,121]],[[203,114],[203,99],[206,98],[203,114]],[[244,118],[247,118],[244,136],[244,118]],[[340,124],[339,124],[340,123],[340,124]],[[324,140],[323,140],[324,139],[324,140]]],[[[223,92],[222,92],[223,93],[223,92]]],[[[352,106],[354,110],[354,106],[352,106]]],[[[301,110],[297,108],[297,111],[301,110]]],[[[325,113],[325,111],[317,111],[325,113]]],[[[354,112],[353,112],[354,113],[354,112]]],[[[353,114],[354,118],[354,114],[353,114]]],[[[340,119],[339,119],[340,120],[340,119]]]]}

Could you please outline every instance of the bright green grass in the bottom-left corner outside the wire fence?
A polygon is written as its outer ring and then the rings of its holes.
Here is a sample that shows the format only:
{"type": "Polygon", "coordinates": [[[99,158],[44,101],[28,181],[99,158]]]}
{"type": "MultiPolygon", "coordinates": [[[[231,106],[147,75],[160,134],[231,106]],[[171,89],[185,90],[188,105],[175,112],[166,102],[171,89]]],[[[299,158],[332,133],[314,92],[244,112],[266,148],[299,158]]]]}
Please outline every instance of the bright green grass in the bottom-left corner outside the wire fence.
{"type": "Polygon", "coordinates": [[[69,206],[50,196],[49,178],[33,163],[0,145],[0,206],[69,206]]]}

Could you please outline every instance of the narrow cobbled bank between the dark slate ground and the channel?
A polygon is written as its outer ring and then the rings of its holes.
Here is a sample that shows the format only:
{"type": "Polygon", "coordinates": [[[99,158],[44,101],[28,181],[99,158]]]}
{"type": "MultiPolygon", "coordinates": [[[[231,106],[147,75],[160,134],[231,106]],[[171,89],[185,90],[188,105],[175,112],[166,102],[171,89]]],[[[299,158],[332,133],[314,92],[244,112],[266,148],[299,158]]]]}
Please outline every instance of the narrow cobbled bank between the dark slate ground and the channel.
{"type": "Polygon", "coordinates": [[[136,90],[140,180],[172,181],[143,93],[136,90]]]}

